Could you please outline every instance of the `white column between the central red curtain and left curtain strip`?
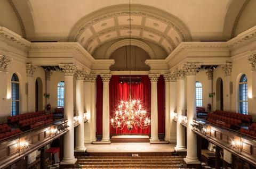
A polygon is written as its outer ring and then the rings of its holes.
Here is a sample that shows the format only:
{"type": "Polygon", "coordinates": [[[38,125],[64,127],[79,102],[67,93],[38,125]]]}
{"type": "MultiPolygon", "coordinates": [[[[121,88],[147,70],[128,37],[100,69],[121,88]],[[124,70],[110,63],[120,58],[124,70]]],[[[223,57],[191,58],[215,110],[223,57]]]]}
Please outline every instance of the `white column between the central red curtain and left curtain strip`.
{"type": "Polygon", "coordinates": [[[103,81],[103,112],[102,112],[102,140],[110,141],[109,137],[109,80],[111,74],[101,74],[103,81]]]}

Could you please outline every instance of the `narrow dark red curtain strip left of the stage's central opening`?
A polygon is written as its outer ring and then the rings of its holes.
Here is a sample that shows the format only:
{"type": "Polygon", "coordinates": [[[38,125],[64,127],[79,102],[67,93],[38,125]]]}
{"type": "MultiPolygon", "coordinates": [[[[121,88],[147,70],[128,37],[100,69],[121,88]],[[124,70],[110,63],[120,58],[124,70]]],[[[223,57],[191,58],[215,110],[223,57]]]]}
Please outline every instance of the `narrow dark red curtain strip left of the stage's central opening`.
{"type": "Polygon", "coordinates": [[[102,103],[103,103],[103,82],[98,75],[96,79],[96,135],[102,135],[102,103]]]}

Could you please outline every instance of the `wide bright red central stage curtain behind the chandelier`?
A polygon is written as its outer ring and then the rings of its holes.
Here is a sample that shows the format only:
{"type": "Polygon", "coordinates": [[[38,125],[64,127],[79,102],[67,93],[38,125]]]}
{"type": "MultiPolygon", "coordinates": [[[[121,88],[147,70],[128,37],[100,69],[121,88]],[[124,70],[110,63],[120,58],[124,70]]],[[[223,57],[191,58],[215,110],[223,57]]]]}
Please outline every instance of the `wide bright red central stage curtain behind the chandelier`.
{"type": "MultiPolygon", "coordinates": [[[[110,118],[114,115],[116,106],[119,104],[120,100],[129,99],[129,89],[130,86],[128,83],[120,83],[119,78],[124,77],[123,75],[113,75],[109,82],[109,109],[110,109],[110,118]]],[[[150,100],[151,100],[151,83],[148,75],[136,75],[133,77],[141,77],[141,83],[132,83],[131,84],[131,96],[134,99],[140,99],[142,106],[147,110],[150,117],[150,100]]],[[[98,123],[97,123],[98,125],[98,123]]],[[[110,136],[115,134],[149,134],[150,126],[146,129],[133,128],[128,130],[124,127],[122,130],[113,128],[110,125],[110,136]]]]}

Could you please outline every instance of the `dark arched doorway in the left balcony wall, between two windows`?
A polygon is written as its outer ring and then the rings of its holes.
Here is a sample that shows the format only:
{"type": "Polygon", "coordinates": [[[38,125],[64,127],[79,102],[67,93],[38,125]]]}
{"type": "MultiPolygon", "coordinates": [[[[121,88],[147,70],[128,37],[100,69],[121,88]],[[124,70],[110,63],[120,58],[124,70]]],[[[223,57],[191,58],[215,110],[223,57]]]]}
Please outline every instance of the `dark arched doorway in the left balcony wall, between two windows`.
{"type": "Polygon", "coordinates": [[[43,110],[43,82],[41,80],[41,78],[37,78],[36,79],[36,87],[35,87],[36,91],[36,112],[37,111],[42,111],[43,110]]]}

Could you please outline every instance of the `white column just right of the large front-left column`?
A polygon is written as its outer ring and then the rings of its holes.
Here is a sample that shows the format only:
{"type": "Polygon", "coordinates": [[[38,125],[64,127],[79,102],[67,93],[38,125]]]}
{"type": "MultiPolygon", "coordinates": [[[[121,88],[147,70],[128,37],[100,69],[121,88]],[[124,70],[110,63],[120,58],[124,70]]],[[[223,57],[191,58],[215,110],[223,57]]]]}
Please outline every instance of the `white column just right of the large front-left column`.
{"type": "Polygon", "coordinates": [[[84,75],[83,70],[76,71],[76,111],[80,125],[76,128],[76,152],[84,152],[84,75]]]}

